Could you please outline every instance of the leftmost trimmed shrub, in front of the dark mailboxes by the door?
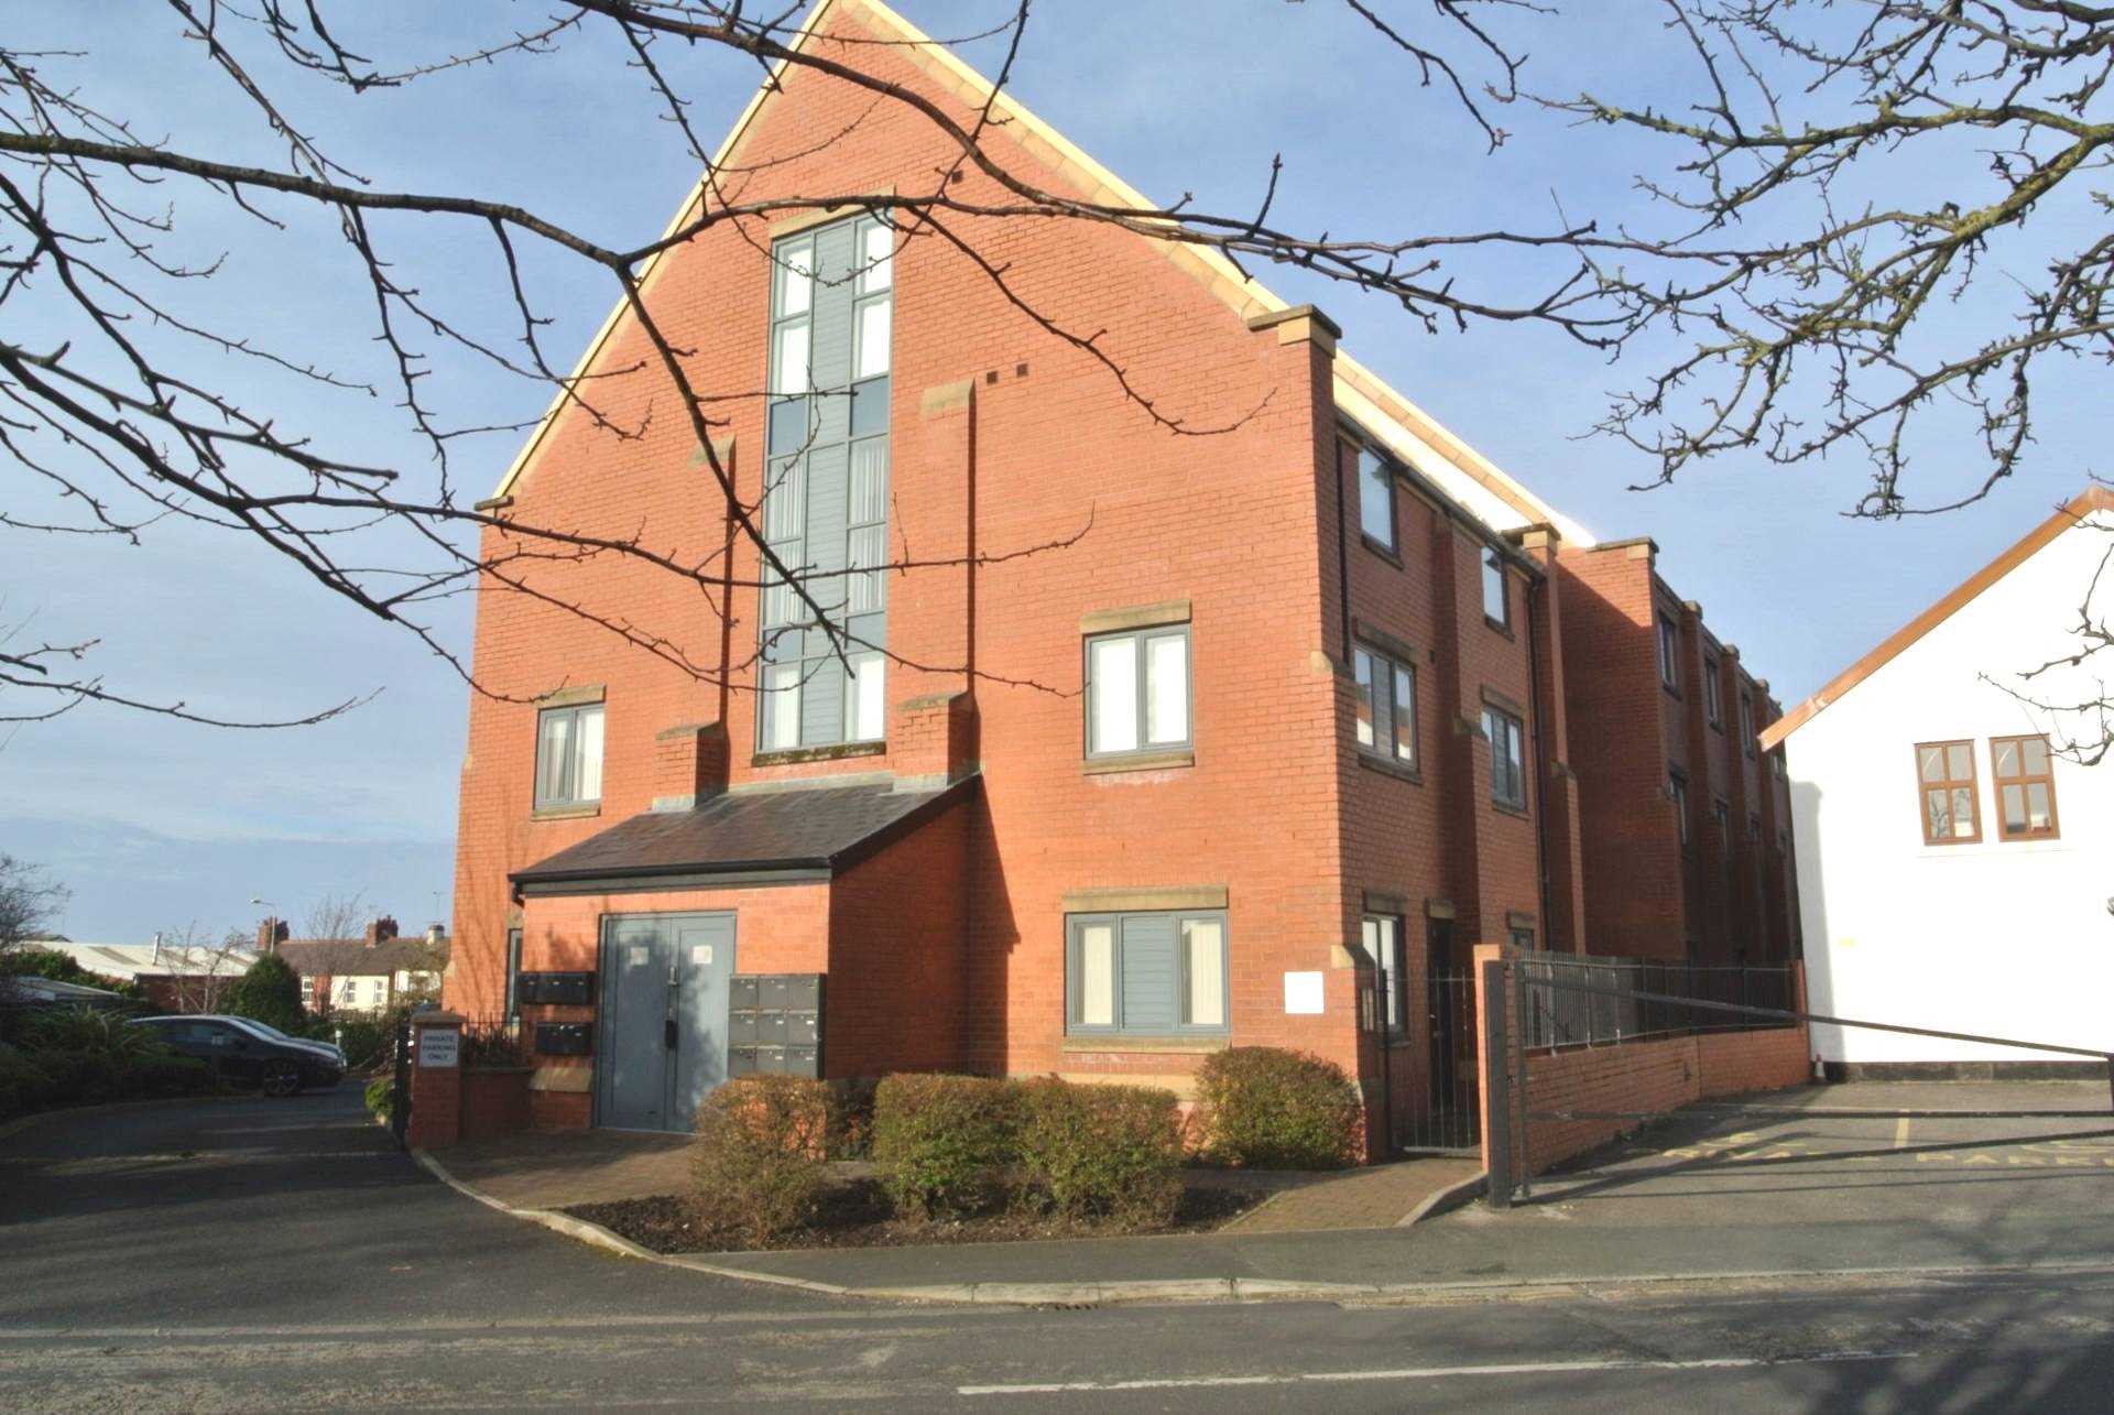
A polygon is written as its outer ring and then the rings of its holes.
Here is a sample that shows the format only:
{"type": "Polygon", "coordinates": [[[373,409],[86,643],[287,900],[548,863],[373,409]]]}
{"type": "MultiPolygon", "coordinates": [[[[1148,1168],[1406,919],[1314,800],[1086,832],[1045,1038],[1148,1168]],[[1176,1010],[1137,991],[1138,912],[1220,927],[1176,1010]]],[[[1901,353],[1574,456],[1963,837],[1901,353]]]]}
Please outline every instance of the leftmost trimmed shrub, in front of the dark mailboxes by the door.
{"type": "Polygon", "coordinates": [[[708,1225],[767,1244],[814,1220],[829,1146],[829,1085],[736,1077],[698,1106],[691,1178],[708,1225]]]}

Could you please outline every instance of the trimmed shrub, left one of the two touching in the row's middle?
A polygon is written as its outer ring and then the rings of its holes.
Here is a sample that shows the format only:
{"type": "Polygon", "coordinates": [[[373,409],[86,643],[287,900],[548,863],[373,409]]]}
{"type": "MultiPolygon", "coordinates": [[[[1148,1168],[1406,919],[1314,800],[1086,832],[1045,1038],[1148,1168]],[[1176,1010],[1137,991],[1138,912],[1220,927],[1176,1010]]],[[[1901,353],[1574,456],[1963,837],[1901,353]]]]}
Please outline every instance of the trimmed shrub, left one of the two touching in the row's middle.
{"type": "Polygon", "coordinates": [[[873,1091],[873,1161],[905,1218],[989,1206],[1017,1132],[1010,1081],[903,1074],[873,1091]]]}

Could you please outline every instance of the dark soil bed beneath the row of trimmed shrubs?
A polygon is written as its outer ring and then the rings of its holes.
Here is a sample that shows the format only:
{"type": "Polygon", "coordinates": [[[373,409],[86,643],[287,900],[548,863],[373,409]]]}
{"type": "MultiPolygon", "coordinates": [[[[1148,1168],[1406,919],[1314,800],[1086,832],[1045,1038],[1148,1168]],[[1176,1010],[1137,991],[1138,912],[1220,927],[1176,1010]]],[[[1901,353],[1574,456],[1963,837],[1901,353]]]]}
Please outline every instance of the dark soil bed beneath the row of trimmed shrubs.
{"type": "MultiPolygon", "coordinates": [[[[1222,1184],[1184,1184],[1173,1223],[1150,1233],[1209,1233],[1260,1203],[1264,1193],[1222,1184]]],[[[755,1250],[736,1233],[708,1225],[698,1203],[685,1195],[577,1203],[562,1210],[598,1223],[653,1252],[744,1252],[755,1250]]],[[[909,1248],[920,1244],[1002,1244],[1049,1237],[1135,1235],[1112,1223],[1042,1214],[1019,1203],[994,1203],[962,1218],[898,1218],[873,1178],[833,1182],[816,1223],[786,1233],[765,1248],[909,1248]]]]}

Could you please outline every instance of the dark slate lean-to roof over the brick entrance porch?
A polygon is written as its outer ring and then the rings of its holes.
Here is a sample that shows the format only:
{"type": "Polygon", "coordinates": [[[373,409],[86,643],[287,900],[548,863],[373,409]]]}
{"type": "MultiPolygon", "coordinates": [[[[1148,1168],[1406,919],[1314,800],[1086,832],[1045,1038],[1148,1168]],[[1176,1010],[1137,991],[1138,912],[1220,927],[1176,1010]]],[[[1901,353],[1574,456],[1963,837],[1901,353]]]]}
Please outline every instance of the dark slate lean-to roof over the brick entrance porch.
{"type": "Polygon", "coordinates": [[[727,791],[693,810],[649,810],[512,876],[520,895],[653,888],[687,878],[827,880],[968,800],[977,776],[937,791],[890,783],[727,791]]]}

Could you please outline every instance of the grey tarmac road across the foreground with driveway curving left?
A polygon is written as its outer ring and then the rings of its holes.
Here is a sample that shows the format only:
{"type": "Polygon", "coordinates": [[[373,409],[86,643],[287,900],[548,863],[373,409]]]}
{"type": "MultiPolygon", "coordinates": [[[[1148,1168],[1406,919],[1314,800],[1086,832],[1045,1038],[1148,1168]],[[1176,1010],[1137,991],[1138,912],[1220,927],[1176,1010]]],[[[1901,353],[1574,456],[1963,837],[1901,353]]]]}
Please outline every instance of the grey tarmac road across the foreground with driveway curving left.
{"type": "MultiPolygon", "coordinates": [[[[1410,1231],[1414,1237],[1414,1231],[1410,1231]]],[[[577,1246],[332,1096],[0,1140],[0,1407],[2091,1409],[2114,1265],[1406,1303],[831,1303],[577,1246]]]]}

